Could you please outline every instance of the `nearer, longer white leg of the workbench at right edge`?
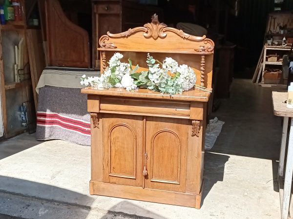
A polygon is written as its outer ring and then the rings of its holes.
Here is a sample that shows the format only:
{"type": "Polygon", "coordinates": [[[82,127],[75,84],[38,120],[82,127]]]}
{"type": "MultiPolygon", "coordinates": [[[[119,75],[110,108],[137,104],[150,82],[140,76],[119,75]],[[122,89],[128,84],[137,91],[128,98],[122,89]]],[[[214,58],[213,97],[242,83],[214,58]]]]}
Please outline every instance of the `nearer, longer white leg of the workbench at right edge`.
{"type": "Polygon", "coordinates": [[[283,196],[283,203],[281,206],[281,219],[288,219],[290,196],[291,196],[292,174],[293,174],[293,123],[291,122],[289,142],[288,142],[287,161],[286,161],[286,171],[285,171],[284,196],[283,196]]]}

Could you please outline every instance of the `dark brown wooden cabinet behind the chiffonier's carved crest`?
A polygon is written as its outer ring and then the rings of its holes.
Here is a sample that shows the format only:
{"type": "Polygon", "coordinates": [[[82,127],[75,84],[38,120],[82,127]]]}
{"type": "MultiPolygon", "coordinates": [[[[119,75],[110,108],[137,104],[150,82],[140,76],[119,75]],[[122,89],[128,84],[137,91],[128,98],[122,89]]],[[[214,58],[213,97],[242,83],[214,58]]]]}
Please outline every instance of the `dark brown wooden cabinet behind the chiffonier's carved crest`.
{"type": "Polygon", "coordinates": [[[157,13],[163,18],[163,9],[139,4],[137,0],[92,0],[93,14],[93,63],[100,66],[97,45],[99,38],[110,33],[121,33],[129,28],[143,26],[157,13]]]}

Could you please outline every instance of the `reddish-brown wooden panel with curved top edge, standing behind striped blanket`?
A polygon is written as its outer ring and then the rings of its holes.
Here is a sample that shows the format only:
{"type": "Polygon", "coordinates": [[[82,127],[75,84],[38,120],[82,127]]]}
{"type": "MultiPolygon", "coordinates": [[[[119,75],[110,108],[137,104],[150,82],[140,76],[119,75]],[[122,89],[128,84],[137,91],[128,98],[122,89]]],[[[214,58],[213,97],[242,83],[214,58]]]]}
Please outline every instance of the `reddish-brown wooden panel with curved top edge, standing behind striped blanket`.
{"type": "Polygon", "coordinates": [[[48,66],[91,67],[88,33],[66,18],[58,0],[45,0],[45,28],[48,66]]]}

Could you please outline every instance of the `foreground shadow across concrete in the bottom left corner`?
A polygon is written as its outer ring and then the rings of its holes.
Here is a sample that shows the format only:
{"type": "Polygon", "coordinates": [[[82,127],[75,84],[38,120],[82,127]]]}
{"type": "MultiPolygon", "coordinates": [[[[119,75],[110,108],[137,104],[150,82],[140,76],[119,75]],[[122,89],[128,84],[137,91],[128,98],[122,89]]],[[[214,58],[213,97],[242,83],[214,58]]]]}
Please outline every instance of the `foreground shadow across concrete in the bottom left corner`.
{"type": "MultiPolygon", "coordinates": [[[[18,215],[19,217],[24,218],[39,218],[38,206],[34,205],[34,200],[42,201],[42,208],[49,209],[47,212],[47,218],[52,218],[50,209],[52,205],[65,205],[64,209],[67,209],[69,206],[79,206],[79,203],[86,203],[87,206],[90,206],[94,202],[94,198],[86,196],[84,194],[74,192],[68,189],[63,189],[49,184],[37,183],[22,179],[16,179],[11,177],[0,176],[0,193],[2,194],[12,194],[16,197],[23,197],[21,202],[22,206],[13,206],[11,205],[12,200],[1,200],[0,199],[0,211],[2,214],[9,215],[18,215]],[[13,189],[9,189],[9,188],[13,189]],[[12,191],[13,192],[12,192],[12,191]],[[64,203],[63,203],[64,202],[64,203]],[[23,203],[23,204],[22,204],[23,203]],[[67,204],[68,203],[68,204],[67,204]],[[73,204],[71,204],[73,203],[73,204]],[[66,207],[67,206],[67,207],[66,207]],[[30,207],[32,209],[30,209],[30,207]],[[31,211],[32,210],[32,211],[31,211]],[[30,211],[30,213],[28,213],[30,211]],[[28,215],[25,215],[28,214],[28,215]],[[36,214],[36,215],[35,215],[36,214]]],[[[18,202],[19,203],[19,202],[18,202]]],[[[78,215],[79,219],[86,219],[87,214],[83,208],[75,208],[78,212],[68,211],[68,218],[76,218],[78,215]],[[72,215],[70,215],[72,214],[72,215]]],[[[41,209],[42,210],[42,209],[41,209]]],[[[52,211],[52,210],[51,210],[52,211]]],[[[56,218],[60,218],[58,215],[59,212],[53,212],[56,214],[56,218]]],[[[1,216],[1,215],[0,215],[1,216]]],[[[64,215],[63,215],[64,216],[64,215]]],[[[46,218],[46,215],[43,214],[42,218],[46,218]]],[[[2,218],[1,218],[2,219],[2,218]]]]}

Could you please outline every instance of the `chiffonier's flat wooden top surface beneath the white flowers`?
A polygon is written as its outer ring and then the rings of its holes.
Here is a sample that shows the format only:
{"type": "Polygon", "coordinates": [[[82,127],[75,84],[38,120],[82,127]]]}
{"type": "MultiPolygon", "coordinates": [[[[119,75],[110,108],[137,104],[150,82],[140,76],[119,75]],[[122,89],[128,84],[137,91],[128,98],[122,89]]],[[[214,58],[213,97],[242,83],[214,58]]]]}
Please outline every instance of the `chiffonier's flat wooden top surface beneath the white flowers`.
{"type": "Polygon", "coordinates": [[[96,94],[105,96],[124,96],[124,97],[137,97],[137,98],[151,98],[151,99],[169,99],[169,100],[185,100],[185,101],[201,101],[208,102],[211,89],[207,88],[208,91],[191,90],[184,91],[182,94],[162,94],[156,91],[150,91],[147,89],[137,89],[135,91],[126,91],[122,88],[111,88],[111,89],[97,89],[87,87],[82,89],[82,93],[96,94]]]}

